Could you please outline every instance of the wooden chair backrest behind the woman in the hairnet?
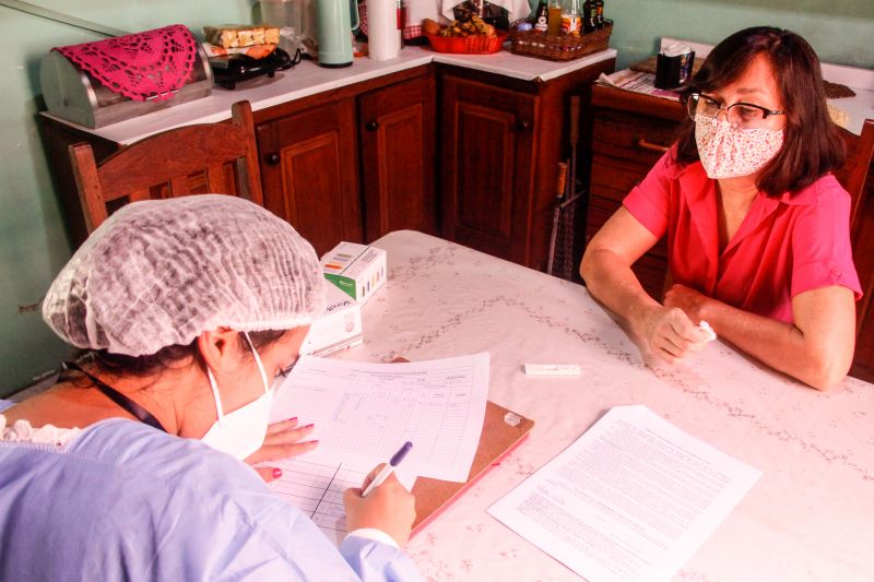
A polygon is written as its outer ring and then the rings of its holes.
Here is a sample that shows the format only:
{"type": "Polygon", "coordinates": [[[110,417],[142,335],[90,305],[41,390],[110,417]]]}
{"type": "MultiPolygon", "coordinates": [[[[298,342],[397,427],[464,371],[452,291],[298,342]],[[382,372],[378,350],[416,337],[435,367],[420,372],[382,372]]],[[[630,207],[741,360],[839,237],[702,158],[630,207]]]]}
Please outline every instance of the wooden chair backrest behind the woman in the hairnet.
{"type": "Polygon", "coordinates": [[[127,202],[196,193],[240,195],[263,205],[249,102],[231,122],[172,129],[123,146],[99,164],[87,143],[70,145],[88,233],[127,202]]]}

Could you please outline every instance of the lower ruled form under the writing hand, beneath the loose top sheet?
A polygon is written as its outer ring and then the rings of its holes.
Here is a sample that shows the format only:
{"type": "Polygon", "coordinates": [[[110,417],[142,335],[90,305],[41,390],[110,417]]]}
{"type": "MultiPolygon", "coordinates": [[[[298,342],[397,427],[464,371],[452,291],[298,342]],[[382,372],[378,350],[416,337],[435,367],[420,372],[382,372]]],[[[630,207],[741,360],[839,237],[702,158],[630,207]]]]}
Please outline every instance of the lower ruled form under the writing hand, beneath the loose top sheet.
{"type": "MultiPolygon", "coordinates": [[[[356,471],[343,465],[322,465],[300,460],[270,463],[282,470],[282,476],[270,484],[286,502],[306,513],[328,539],[339,546],[346,535],[346,509],[343,494],[361,487],[369,470],[356,471]]],[[[415,476],[398,472],[404,487],[412,489],[415,476]]]]}

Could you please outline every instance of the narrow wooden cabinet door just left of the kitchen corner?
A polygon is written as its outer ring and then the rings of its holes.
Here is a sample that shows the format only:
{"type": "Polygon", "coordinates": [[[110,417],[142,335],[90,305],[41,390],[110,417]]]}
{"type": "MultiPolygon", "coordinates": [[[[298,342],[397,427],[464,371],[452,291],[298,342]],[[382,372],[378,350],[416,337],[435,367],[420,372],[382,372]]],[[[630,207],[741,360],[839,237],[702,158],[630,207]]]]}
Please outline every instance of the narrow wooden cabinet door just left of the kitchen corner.
{"type": "Polygon", "coordinates": [[[427,74],[358,97],[365,238],[437,234],[435,88],[427,74]]]}

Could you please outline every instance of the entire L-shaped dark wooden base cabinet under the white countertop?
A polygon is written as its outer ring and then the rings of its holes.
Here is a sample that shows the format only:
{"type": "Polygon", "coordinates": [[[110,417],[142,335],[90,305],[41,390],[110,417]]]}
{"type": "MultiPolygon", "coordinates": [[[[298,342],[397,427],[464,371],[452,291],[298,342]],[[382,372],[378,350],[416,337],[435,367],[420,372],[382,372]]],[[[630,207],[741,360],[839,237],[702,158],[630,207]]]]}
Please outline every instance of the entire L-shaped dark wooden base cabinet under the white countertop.
{"type": "MultiPolygon", "coordinates": [[[[264,204],[319,253],[415,229],[544,270],[557,164],[570,155],[569,98],[587,104],[614,62],[547,81],[429,63],[258,109],[264,204]]],[[[67,145],[88,141],[99,161],[120,144],[49,118],[43,126],[74,225],[67,145]]]]}

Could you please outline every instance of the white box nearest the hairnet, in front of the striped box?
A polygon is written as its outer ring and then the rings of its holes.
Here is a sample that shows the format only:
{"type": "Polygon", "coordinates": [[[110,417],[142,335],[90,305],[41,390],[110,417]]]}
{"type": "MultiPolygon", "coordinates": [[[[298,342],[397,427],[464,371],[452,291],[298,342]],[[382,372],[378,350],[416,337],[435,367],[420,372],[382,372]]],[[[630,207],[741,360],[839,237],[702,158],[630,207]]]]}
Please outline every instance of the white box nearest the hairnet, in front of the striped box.
{"type": "Polygon", "coordinates": [[[333,285],[324,286],[324,312],[309,326],[300,353],[327,356],[364,342],[362,307],[333,285]]]}

